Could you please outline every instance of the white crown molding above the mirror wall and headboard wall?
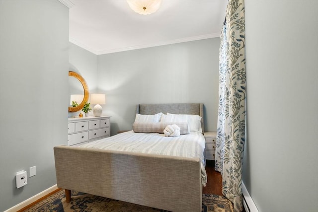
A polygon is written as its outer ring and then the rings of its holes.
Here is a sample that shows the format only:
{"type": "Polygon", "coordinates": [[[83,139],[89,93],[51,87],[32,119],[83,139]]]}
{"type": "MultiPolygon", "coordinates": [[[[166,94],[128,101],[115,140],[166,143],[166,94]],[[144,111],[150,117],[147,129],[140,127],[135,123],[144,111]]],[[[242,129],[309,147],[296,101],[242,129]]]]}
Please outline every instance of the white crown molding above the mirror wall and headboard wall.
{"type": "Polygon", "coordinates": [[[208,38],[217,38],[220,37],[220,33],[214,33],[214,34],[206,34],[206,35],[200,35],[200,36],[194,36],[194,37],[187,37],[187,38],[181,38],[181,39],[175,39],[175,40],[168,40],[168,41],[162,41],[158,43],[153,44],[145,44],[145,45],[137,45],[137,46],[130,46],[125,48],[118,48],[118,49],[107,49],[107,50],[96,50],[93,48],[90,48],[78,41],[76,41],[73,38],[70,38],[70,42],[95,54],[95,55],[104,55],[104,54],[110,54],[110,53],[116,53],[116,52],[125,52],[130,50],[137,50],[137,49],[145,49],[150,47],[156,47],[156,46],[164,46],[164,45],[170,45],[170,44],[176,44],[176,43],[183,43],[183,42],[189,42],[189,41],[196,41],[196,40],[203,40],[208,38]]]}

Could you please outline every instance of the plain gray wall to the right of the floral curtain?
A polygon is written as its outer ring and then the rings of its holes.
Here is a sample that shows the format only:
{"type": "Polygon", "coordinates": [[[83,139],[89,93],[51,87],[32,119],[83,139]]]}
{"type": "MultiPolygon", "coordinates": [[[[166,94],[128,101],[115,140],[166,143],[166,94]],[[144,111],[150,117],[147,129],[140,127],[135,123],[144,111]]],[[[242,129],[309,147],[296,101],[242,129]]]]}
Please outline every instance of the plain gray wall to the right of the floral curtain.
{"type": "Polygon", "coordinates": [[[243,182],[260,212],[318,209],[317,11],[317,0],[245,0],[243,182]]]}

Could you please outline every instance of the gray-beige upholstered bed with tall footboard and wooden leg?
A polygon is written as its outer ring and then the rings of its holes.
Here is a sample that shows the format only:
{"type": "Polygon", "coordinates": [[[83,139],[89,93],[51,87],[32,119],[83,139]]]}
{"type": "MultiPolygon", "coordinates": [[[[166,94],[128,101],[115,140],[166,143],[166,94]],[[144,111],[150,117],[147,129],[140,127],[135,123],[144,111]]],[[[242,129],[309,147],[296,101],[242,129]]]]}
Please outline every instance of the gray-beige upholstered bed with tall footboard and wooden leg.
{"type": "MultiPolygon", "coordinates": [[[[204,132],[202,103],[140,104],[136,108],[136,113],[141,115],[198,115],[202,117],[200,127],[204,132]]],[[[118,143],[111,145],[122,147],[121,142],[126,142],[127,137],[139,139],[136,134],[144,134],[150,141],[161,137],[156,145],[168,139],[162,138],[162,134],[133,131],[107,139],[118,139],[118,143]]],[[[197,132],[190,136],[195,140],[200,137],[204,140],[203,135],[197,132]]],[[[177,139],[181,137],[183,135],[177,139]]],[[[108,142],[107,139],[104,140],[108,142]]],[[[204,151],[205,141],[200,142],[204,151]]],[[[201,211],[202,186],[206,182],[204,158],[200,156],[203,155],[202,148],[198,150],[199,156],[183,153],[163,155],[146,151],[147,147],[142,147],[143,151],[132,151],[135,146],[129,151],[104,149],[97,147],[100,143],[104,141],[93,141],[79,147],[54,147],[57,186],[65,189],[67,202],[71,200],[71,190],[75,190],[166,211],[201,211]]]]}

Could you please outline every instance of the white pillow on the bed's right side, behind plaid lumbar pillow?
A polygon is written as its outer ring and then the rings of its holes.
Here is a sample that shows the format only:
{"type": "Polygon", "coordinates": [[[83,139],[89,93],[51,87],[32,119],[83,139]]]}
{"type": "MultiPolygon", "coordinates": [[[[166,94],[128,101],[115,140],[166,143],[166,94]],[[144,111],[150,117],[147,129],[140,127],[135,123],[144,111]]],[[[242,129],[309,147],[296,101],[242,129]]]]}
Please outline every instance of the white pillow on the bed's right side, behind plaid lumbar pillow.
{"type": "Polygon", "coordinates": [[[160,122],[188,122],[190,131],[202,133],[201,119],[198,115],[167,113],[165,117],[161,117],[160,122]]]}

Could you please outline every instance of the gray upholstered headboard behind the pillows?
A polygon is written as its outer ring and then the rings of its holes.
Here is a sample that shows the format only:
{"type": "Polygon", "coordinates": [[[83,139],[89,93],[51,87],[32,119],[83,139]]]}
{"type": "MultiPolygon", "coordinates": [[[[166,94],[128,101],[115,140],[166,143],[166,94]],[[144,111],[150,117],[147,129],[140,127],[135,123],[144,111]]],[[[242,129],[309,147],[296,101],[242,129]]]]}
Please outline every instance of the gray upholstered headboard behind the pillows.
{"type": "Polygon", "coordinates": [[[203,103],[171,103],[171,104],[138,104],[136,113],[152,115],[157,113],[193,114],[202,117],[201,125],[204,132],[203,103]]]}

